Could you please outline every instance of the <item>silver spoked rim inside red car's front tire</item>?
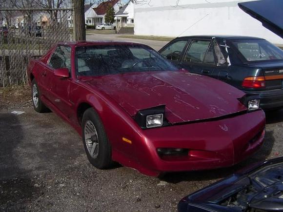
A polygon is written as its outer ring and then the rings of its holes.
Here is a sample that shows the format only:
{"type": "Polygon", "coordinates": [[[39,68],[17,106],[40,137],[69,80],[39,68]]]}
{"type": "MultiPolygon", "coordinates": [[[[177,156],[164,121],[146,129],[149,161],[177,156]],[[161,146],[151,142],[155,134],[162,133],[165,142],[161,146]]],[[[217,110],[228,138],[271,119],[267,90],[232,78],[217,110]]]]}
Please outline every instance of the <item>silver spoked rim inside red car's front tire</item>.
{"type": "Polygon", "coordinates": [[[99,148],[98,136],[94,124],[90,120],[87,120],[84,125],[84,142],[90,156],[94,159],[97,158],[99,148]]]}

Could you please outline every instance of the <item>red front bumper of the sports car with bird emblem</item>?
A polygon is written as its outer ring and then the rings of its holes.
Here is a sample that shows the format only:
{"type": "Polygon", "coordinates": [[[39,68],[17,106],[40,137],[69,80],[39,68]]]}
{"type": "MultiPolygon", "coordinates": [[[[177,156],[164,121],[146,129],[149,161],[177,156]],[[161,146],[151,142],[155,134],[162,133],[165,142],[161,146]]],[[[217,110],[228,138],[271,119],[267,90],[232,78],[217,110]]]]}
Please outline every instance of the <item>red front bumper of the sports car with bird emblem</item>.
{"type": "Polygon", "coordinates": [[[262,110],[217,121],[144,130],[138,145],[137,169],[148,175],[162,172],[207,170],[232,166],[263,144],[265,115],[262,110]],[[162,158],[157,148],[188,149],[185,156],[162,158]]]}

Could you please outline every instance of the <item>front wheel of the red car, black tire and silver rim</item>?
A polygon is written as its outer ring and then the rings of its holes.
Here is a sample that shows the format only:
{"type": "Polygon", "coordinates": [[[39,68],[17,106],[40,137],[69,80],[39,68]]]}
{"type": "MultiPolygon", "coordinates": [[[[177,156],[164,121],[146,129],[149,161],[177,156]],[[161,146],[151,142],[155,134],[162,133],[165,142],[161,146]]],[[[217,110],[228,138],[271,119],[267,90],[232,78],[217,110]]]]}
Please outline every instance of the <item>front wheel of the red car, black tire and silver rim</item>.
{"type": "Polygon", "coordinates": [[[99,115],[93,108],[82,116],[82,141],[89,162],[98,169],[107,169],[112,164],[111,145],[99,115]]]}

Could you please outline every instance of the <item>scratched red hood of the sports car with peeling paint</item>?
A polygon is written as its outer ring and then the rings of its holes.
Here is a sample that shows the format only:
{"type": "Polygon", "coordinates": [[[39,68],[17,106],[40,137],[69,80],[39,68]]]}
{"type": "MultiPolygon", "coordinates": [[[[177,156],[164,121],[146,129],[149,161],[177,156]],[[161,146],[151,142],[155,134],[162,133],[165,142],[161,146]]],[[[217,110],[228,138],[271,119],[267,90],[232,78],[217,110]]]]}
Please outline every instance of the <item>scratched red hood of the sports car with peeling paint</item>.
{"type": "Polygon", "coordinates": [[[130,115],[165,104],[171,123],[233,114],[246,110],[244,93],[219,80],[184,72],[138,72],[82,79],[113,98],[130,115]]]}

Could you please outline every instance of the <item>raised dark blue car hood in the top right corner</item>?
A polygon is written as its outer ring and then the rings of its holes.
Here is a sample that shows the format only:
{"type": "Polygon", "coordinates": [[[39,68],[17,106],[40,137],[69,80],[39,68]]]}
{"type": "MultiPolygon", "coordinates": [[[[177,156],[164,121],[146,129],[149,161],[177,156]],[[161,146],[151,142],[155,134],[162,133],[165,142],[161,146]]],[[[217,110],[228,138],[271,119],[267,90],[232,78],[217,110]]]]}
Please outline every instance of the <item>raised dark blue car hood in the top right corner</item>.
{"type": "Polygon", "coordinates": [[[261,21],[265,28],[283,38],[283,0],[256,0],[238,5],[245,13],[261,21]]]}

